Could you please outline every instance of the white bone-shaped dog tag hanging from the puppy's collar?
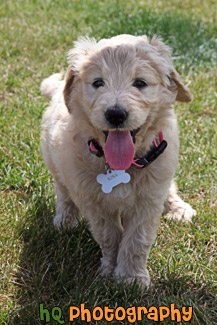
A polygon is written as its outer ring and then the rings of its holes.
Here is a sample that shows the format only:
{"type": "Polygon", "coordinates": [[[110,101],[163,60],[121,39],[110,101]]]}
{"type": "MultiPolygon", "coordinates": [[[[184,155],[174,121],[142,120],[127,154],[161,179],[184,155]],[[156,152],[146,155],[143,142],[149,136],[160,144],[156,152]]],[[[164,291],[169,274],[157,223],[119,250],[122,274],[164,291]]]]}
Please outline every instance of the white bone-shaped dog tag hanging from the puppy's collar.
{"type": "Polygon", "coordinates": [[[106,174],[99,174],[96,180],[102,185],[104,193],[111,193],[113,187],[121,183],[129,183],[130,178],[130,175],[125,170],[108,169],[106,174]]]}

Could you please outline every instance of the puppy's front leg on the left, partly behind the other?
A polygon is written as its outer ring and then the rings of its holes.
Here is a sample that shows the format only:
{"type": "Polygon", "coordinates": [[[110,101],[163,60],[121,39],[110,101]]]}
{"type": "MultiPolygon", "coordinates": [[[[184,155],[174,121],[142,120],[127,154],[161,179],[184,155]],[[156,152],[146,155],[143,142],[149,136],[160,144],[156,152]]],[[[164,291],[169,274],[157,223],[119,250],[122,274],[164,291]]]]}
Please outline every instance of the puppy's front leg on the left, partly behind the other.
{"type": "Polygon", "coordinates": [[[118,247],[123,232],[120,214],[118,212],[108,213],[102,217],[102,211],[95,210],[93,215],[90,215],[89,212],[85,216],[89,221],[92,234],[102,250],[100,274],[104,277],[109,276],[117,265],[118,247]]]}

